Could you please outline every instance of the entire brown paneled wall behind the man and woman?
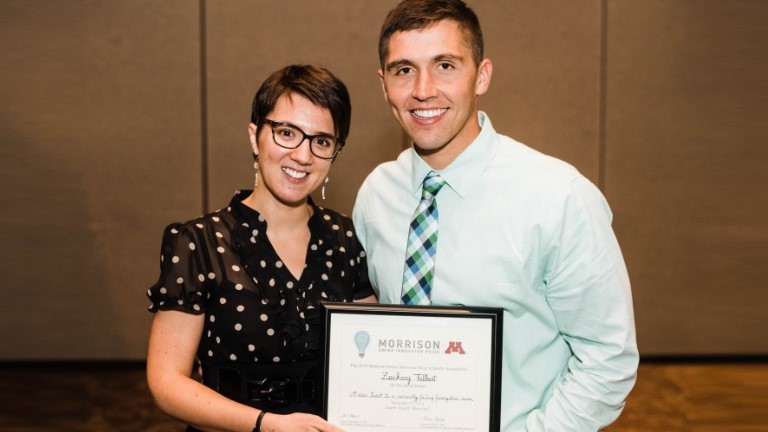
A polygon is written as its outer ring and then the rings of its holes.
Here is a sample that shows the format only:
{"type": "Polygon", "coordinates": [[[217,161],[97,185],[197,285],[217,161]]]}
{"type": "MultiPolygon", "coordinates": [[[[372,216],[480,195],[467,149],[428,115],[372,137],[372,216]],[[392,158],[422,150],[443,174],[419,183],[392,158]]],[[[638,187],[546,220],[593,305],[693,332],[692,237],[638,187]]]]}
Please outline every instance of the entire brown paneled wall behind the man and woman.
{"type": "MultiPolygon", "coordinates": [[[[768,354],[768,4],[469,3],[496,129],[612,206],[641,353],[768,354]]],[[[251,186],[250,102],[285,64],[350,89],[323,205],[351,212],[406,145],[376,76],[394,4],[0,2],[0,360],[143,359],[162,230],[251,186]]]]}

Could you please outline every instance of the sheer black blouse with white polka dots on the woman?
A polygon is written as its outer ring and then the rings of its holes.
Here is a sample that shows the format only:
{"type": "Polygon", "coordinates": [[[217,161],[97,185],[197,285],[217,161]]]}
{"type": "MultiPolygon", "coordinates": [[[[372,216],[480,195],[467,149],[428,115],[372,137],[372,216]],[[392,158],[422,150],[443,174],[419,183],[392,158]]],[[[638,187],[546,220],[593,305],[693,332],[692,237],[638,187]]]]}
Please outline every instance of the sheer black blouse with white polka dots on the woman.
{"type": "Polygon", "coordinates": [[[160,278],[149,310],[205,314],[198,347],[203,365],[316,360],[322,352],[319,302],[373,294],[365,252],[352,221],[314,206],[301,278],[280,261],[267,222],[241,201],[163,234],[160,278]]]}

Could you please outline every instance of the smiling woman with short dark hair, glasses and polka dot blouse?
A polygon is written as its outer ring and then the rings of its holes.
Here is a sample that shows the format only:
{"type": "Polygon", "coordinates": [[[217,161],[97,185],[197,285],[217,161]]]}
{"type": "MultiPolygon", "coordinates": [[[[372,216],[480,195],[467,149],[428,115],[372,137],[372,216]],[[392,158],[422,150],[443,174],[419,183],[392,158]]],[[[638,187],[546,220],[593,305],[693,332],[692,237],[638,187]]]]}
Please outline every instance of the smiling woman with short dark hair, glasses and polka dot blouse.
{"type": "Polygon", "coordinates": [[[147,381],[188,430],[340,430],[317,415],[318,305],[376,298],[351,220],[309,194],[327,181],[350,116],[347,89],[327,70],[273,73],[248,125],[254,190],[166,228],[148,292],[147,381]]]}

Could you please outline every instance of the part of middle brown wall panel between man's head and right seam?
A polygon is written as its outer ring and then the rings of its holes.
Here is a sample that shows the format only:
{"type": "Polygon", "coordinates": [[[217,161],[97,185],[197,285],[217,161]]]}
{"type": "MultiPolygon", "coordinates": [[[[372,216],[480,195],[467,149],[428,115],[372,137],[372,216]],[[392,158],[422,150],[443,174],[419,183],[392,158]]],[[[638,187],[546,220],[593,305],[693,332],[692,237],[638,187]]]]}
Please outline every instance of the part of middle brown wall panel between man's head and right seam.
{"type": "Polygon", "coordinates": [[[600,1],[474,1],[494,128],[598,181],[600,1]]]}

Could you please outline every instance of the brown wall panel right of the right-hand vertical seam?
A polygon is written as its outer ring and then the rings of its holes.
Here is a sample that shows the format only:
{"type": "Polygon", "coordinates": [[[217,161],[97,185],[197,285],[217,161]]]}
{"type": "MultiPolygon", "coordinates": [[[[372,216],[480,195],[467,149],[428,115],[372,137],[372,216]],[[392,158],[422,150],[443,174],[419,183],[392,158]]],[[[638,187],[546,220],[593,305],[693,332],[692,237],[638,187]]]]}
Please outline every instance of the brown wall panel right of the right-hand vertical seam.
{"type": "Polygon", "coordinates": [[[608,2],[606,186],[643,354],[768,353],[767,6],[608,2]]]}

